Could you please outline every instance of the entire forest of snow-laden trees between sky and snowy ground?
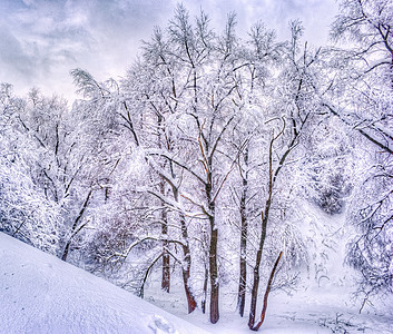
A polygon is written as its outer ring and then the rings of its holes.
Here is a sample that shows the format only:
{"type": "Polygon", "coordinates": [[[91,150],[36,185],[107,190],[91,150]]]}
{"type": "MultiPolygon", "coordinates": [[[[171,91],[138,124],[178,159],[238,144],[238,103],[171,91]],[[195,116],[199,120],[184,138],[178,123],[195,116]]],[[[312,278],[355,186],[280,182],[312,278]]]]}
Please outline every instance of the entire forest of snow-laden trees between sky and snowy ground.
{"type": "Polygon", "coordinates": [[[213,324],[230,289],[257,331],[313,266],[308,203],[345,215],[360,308],[391,296],[393,3],[342,1],[326,46],[236,23],[178,4],[122,78],[72,69],[71,107],[1,84],[0,232],[213,324]]]}

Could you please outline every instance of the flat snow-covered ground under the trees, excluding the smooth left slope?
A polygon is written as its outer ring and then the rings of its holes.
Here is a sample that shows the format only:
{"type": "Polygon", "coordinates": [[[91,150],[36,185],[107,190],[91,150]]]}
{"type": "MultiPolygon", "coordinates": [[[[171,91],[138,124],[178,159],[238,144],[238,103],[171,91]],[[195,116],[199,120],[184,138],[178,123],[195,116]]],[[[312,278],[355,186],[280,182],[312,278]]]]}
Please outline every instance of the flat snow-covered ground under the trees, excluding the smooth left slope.
{"type": "MultiPolygon", "coordinates": [[[[288,333],[393,333],[392,295],[374,297],[360,314],[362,299],[354,297],[356,273],[344,265],[351,227],[345,214],[327,215],[313,205],[304,204],[302,233],[308,245],[310,271],[291,295],[283,291],[269,294],[266,318],[259,332],[288,333]]],[[[264,288],[264,287],[263,287],[264,288]]],[[[187,315],[184,297],[157,289],[146,292],[147,301],[184,317],[206,331],[219,334],[250,333],[247,327],[248,310],[240,318],[236,312],[236,287],[222,287],[222,312],[218,324],[196,311],[187,315]]],[[[248,306],[249,299],[246,301],[248,306]]],[[[259,304],[261,297],[259,297],[259,304]]],[[[261,305],[259,305],[261,306],[261,305]]]]}

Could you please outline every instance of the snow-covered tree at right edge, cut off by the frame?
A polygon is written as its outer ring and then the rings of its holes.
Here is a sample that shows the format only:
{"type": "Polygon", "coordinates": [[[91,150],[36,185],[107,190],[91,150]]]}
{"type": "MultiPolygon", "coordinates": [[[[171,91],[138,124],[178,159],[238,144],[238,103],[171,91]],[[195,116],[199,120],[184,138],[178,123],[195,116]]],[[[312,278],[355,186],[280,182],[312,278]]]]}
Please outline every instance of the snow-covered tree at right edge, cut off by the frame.
{"type": "Polygon", "coordinates": [[[381,288],[392,289],[393,279],[392,20],[391,1],[347,0],[342,1],[332,26],[336,41],[351,43],[335,50],[335,94],[326,106],[360,135],[356,158],[366,164],[360,164],[364,177],[358,179],[356,200],[351,203],[350,219],[358,227],[358,236],[348,255],[348,262],[362,273],[366,297],[381,288]]]}

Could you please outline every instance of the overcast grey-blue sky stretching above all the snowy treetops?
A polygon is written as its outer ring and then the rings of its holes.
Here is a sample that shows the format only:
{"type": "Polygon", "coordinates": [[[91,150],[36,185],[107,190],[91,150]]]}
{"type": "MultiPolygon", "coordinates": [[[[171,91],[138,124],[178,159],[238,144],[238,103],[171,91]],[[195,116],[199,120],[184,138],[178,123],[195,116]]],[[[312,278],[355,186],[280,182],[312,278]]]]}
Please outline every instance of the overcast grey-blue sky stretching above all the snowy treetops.
{"type": "MultiPolygon", "coordinates": [[[[0,82],[18,95],[38,87],[73,99],[69,71],[82,68],[98,80],[119,78],[138,55],[154,26],[165,27],[177,0],[0,0],[0,82]]],[[[327,41],[337,13],[335,0],[184,0],[190,11],[207,12],[216,30],[237,13],[238,32],[265,22],[286,38],[288,21],[301,19],[305,40],[327,41]]]]}

